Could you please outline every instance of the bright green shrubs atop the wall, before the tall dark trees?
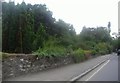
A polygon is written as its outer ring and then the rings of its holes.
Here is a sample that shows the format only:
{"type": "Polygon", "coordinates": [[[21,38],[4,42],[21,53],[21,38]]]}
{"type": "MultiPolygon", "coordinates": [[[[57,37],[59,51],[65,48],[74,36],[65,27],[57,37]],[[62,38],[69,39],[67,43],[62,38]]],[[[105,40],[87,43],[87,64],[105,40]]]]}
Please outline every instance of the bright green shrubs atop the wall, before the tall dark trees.
{"type": "Polygon", "coordinates": [[[43,48],[39,48],[35,54],[39,56],[65,56],[66,49],[62,46],[58,46],[56,38],[50,37],[48,41],[45,42],[43,48]]]}

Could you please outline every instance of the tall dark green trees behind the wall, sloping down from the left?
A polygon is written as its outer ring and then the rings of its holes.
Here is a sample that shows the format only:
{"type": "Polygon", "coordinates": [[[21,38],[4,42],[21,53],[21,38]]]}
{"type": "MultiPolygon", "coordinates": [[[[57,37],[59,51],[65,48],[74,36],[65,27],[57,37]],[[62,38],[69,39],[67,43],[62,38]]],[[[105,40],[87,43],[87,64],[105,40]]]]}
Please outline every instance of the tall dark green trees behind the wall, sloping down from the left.
{"type": "Polygon", "coordinates": [[[59,38],[64,47],[74,44],[73,26],[62,20],[56,21],[52,12],[42,4],[2,2],[3,52],[31,53],[44,47],[50,36],[59,38]]]}

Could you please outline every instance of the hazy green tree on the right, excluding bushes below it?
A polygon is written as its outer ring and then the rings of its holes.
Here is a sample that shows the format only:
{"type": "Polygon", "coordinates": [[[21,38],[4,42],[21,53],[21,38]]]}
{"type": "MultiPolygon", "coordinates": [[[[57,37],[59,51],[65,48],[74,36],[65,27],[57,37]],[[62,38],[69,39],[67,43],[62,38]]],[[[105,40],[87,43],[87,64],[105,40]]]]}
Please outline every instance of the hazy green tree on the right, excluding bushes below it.
{"type": "Polygon", "coordinates": [[[85,50],[90,50],[100,42],[111,43],[112,38],[106,27],[86,28],[83,27],[79,34],[79,47],[85,50]]]}

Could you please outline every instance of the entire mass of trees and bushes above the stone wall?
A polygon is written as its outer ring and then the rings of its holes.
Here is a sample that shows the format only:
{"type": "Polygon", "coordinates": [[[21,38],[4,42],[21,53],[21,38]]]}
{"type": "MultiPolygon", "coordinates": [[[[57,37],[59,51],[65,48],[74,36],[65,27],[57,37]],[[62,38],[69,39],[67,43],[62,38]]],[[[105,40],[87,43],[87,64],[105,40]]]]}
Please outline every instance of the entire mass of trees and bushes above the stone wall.
{"type": "MultiPolygon", "coordinates": [[[[115,40],[108,27],[83,27],[76,34],[72,24],[56,21],[42,4],[2,2],[2,51],[7,53],[37,53],[44,56],[68,54],[101,55],[111,53],[115,40]]],[[[114,48],[114,49],[113,49],[114,48]]]]}

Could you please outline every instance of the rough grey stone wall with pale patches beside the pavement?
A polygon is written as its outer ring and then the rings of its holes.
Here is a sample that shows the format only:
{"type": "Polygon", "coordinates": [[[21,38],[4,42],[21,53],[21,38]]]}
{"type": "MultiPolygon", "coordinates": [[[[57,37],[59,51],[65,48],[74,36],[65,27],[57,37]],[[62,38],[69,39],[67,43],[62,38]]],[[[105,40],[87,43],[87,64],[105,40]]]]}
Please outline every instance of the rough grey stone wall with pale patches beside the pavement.
{"type": "Polygon", "coordinates": [[[31,54],[7,54],[2,59],[2,78],[16,77],[73,63],[72,56],[40,57],[31,54]]]}

